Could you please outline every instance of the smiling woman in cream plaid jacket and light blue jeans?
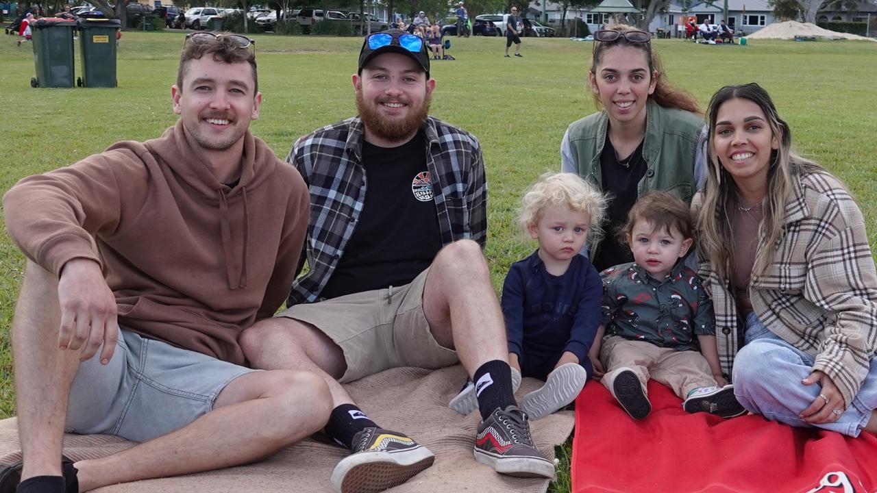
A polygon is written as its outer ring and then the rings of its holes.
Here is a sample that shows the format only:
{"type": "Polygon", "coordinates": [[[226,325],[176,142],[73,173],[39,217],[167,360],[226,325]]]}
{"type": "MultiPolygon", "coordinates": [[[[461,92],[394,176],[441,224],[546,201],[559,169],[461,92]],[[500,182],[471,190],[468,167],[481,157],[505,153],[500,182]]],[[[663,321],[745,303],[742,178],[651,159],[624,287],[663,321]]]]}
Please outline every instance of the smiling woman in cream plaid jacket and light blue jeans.
{"type": "Polygon", "coordinates": [[[692,203],[720,360],[740,404],[793,426],[877,432],[877,273],[844,184],[791,152],[758,84],[709,104],[692,203]]]}

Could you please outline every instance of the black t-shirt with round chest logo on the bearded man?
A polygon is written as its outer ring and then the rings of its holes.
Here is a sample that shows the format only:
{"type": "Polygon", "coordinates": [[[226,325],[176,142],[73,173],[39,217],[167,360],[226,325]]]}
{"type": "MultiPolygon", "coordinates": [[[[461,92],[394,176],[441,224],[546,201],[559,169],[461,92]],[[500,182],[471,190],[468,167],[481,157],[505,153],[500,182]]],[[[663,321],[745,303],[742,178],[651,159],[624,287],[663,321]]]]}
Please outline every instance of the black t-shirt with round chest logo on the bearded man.
{"type": "Polygon", "coordinates": [[[441,232],[425,148],[423,131],[398,147],[363,143],[365,202],[320,297],[403,286],[430,266],[441,232]]]}

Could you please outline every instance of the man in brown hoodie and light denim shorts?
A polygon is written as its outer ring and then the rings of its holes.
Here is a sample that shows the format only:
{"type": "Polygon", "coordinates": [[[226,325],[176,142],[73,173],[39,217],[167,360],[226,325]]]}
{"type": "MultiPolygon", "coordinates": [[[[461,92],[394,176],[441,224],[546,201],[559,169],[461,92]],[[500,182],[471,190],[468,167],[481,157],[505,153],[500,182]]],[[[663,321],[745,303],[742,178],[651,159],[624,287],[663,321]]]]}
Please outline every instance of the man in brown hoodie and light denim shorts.
{"type": "Polygon", "coordinates": [[[4,196],[27,256],[13,358],[24,464],[0,490],[90,490],[257,461],[316,432],[326,384],[244,368],[239,332],[272,315],[302,251],[301,175],[248,131],[253,41],[189,34],[176,125],[4,196]],[[62,460],[65,427],[142,442],[62,460]]]}

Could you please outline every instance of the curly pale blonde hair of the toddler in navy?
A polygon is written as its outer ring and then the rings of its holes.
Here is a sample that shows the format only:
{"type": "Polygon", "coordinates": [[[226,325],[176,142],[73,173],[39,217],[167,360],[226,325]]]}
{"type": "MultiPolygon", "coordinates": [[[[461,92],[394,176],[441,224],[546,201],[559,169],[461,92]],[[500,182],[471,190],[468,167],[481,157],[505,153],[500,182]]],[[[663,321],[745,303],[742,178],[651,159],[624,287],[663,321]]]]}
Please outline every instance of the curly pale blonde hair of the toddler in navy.
{"type": "Polygon", "coordinates": [[[566,206],[572,211],[585,212],[590,216],[588,244],[593,244],[602,239],[601,225],[606,216],[606,203],[605,194],[579,175],[546,173],[524,194],[517,222],[525,232],[529,225],[538,224],[546,206],[566,206]]]}

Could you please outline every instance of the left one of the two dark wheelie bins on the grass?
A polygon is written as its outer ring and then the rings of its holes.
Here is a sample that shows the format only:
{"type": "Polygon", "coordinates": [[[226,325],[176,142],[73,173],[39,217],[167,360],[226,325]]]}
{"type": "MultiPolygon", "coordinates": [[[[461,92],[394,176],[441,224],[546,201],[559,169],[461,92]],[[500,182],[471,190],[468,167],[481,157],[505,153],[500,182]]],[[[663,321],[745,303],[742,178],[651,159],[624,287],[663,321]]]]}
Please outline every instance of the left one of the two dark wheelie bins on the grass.
{"type": "Polygon", "coordinates": [[[73,32],[76,22],[62,18],[41,18],[33,23],[33,61],[37,76],[31,87],[74,87],[73,32]]]}

